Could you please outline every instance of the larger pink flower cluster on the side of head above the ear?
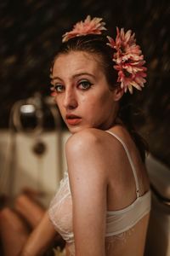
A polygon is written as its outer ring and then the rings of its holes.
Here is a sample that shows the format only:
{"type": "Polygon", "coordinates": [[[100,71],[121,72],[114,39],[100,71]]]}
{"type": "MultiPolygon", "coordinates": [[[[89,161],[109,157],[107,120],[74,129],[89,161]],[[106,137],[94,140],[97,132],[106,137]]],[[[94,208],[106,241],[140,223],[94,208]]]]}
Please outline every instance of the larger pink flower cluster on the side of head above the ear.
{"type": "Polygon", "coordinates": [[[144,55],[138,44],[136,44],[136,39],[134,38],[134,33],[128,30],[126,33],[122,28],[119,31],[116,27],[116,40],[107,37],[109,42],[108,45],[115,50],[113,54],[113,61],[116,63],[114,68],[118,71],[117,82],[121,83],[121,87],[127,92],[133,93],[133,87],[138,90],[142,90],[146,80],[146,70],[144,67],[144,55]]]}

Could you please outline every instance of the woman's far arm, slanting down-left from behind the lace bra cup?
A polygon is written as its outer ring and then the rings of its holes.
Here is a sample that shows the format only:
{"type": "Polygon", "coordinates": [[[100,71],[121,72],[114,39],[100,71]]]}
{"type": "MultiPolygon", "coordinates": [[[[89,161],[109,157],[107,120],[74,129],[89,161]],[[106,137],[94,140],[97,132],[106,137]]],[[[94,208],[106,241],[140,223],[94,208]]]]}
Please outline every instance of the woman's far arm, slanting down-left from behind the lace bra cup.
{"type": "Polygon", "coordinates": [[[20,256],[39,256],[46,252],[48,247],[54,241],[56,231],[54,226],[48,218],[48,212],[46,212],[37,225],[37,228],[32,231],[26,241],[26,245],[20,252],[20,256]]]}

